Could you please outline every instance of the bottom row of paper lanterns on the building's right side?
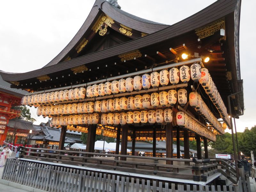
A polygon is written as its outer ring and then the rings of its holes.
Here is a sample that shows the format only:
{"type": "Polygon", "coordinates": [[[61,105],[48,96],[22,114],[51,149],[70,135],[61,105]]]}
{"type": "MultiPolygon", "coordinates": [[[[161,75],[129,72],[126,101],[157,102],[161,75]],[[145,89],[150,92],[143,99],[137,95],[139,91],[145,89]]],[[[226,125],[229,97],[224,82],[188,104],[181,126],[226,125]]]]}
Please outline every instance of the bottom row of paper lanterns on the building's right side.
{"type": "Polygon", "coordinates": [[[178,126],[185,127],[209,140],[216,141],[216,136],[209,129],[197,123],[193,118],[184,112],[176,113],[176,122],[178,126]]]}

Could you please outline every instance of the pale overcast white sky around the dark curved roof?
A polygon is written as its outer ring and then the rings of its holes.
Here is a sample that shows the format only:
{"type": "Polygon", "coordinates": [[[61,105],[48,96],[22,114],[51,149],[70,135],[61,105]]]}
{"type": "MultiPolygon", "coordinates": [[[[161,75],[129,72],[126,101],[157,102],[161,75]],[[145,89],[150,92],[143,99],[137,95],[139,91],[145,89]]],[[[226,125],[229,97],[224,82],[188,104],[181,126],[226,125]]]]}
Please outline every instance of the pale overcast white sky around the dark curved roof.
{"type": "MultiPolygon", "coordinates": [[[[0,70],[28,72],[49,63],[75,36],[91,11],[94,0],[0,1],[0,70]]],[[[122,10],[138,17],[172,25],[212,4],[213,0],[118,0],[122,10]]],[[[240,68],[244,79],[244,116],[236,119],[238,132],[256,125],[255,0],[242,0],[240,68]]],[[[30,108],[32,117],[36,109],[30,108]]],[[[230,132],[230,131],[229,131],[230,132]]]]}

